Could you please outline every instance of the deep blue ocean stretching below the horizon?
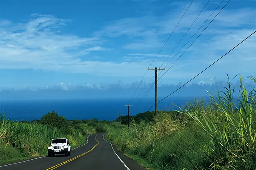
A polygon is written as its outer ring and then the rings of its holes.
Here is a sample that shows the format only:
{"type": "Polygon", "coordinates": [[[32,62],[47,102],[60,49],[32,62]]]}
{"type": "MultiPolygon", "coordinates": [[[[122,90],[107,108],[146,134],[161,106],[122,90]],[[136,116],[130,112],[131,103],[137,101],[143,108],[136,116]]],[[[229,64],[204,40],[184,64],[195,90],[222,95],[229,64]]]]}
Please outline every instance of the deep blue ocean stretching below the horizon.
{"type": "MultiPolygon", "coordinates": [[[[14,121],[31,121],[41,119],[43,115],[54,110],[66,119],[93,119],[112,121],[118,118],[117,114],[128,115],[127,104],[129,99],[66,99],[66,100],[24,100],[0,101],[0,111],[5,117],[14,121]]],[[[158,99],[160,101],[161,98],[158,99]]],[[[158,103],[158,110],[178,109],[192,97],[167,98],[158,103]]],[[[136,103],[130,107],[130,115],[146,112],[154,105],[154,98],[144,99],[137,107],[136,103]]],[[[150,111],[154,111],[152,107],[150,111]]]]}

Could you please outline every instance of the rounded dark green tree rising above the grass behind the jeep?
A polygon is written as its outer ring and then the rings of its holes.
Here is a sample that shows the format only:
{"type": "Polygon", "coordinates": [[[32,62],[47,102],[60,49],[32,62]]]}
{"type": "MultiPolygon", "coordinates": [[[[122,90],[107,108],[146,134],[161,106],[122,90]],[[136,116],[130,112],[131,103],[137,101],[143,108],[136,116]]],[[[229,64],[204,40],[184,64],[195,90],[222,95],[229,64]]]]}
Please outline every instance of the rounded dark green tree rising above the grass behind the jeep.
{"type": "Polygon", "coordinates": [[[54,111],[48,112],[48,114],[44,115],[41,118],[41,123],[43,125],[48,125],[51,127],[58,127],[58,128],[66,128],[68,125],[65,117],[59,116],[58,113],[54,111]]]}

